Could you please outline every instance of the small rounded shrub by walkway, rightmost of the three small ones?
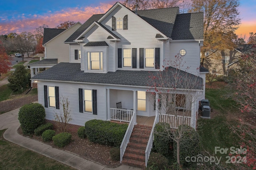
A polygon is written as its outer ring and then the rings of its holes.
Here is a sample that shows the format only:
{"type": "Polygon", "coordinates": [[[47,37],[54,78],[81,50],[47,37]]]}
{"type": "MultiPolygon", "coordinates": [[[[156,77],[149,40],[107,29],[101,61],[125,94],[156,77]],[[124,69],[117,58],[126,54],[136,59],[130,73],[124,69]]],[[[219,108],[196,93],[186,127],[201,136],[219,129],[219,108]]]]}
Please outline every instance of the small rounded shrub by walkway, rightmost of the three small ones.
{"type": "Polygon", "coordinates": [[[71,133],[62,132],[52,137],[53,144],[57,147],[63,148],[71,142],[71,133]]]}

